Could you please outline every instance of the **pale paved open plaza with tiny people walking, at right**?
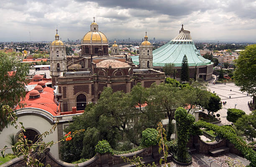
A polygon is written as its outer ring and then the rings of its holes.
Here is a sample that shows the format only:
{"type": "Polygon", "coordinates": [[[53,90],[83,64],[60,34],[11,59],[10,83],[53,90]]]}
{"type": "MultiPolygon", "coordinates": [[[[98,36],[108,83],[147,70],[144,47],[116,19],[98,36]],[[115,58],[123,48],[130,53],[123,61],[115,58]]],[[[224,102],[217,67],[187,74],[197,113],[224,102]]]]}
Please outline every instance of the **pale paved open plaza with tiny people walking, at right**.
{"type": "Polygon", "coordinates": [[[229,108],[236,108],[243,110],[246,114],[251,113],[248,107],[248,101],[252,100],[250,95],[247,96],[247,92],[241,92],[239,87],[237,87],[234,83],[226,83],[226,84],[210,84],[208,85],[208,89],[210,92],[215,92],[220,98],[221,101],[227,102],[226,105],[222,105],[222,109],[216,114],[220,114],[220,120],[223,124],[230,124],[226,120],[227,110],[229,108]],[[231,90],[231,91],[230,91],[231,90]]]}

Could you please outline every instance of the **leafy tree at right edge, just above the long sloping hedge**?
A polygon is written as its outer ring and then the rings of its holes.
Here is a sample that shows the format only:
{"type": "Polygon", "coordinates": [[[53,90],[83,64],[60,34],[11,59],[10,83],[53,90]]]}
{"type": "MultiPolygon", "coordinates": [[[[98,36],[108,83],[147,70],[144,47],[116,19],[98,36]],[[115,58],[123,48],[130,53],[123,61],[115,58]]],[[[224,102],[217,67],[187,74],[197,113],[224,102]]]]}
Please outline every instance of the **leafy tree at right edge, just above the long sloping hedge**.
{"type": "Polygon", "coordinates": [[[256,110],[249,115],[243,115],[235,123],[238,130],[242,130],[248,137],[248,140],[253,142],[253,138],[256,137],[256,110]]]}

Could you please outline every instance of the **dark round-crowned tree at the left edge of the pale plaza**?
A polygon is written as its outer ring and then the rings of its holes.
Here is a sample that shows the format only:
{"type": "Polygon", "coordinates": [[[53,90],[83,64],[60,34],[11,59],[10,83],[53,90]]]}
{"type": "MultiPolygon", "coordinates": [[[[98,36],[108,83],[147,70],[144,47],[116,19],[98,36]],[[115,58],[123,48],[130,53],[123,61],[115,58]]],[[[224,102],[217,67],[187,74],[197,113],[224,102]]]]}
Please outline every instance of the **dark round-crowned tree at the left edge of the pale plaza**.
{"type": "Polygon", "coordinates": [[[205,109],[208,112],[208,115],[210,115],[210,112],[217,112],[222,107],[221,99],[216,93],[211,93],[210,100],[205,107],[205,109]]]}

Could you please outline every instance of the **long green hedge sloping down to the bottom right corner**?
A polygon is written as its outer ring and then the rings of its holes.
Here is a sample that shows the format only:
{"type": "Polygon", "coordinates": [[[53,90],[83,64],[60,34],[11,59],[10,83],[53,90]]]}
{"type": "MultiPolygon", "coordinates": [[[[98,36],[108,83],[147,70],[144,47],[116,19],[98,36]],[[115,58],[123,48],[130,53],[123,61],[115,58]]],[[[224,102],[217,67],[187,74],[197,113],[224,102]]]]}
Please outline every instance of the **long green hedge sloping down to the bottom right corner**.
{"type": "Polygon", "coordinates": [[[235,147],[241,151],[243,156],[250,161],[251,167],[256,167],[256,152],[253,151],[251,147],[249,147],[245,141],[241,137],[238,137],[230,128],[228,127],[219,127],[217,125],[210,124],[208,122],[198,121],[194,123],[195,127],[199,128],[207,128],[209,130],[213,130],[220,137],[223,137],[229,140],[235,147]]]}

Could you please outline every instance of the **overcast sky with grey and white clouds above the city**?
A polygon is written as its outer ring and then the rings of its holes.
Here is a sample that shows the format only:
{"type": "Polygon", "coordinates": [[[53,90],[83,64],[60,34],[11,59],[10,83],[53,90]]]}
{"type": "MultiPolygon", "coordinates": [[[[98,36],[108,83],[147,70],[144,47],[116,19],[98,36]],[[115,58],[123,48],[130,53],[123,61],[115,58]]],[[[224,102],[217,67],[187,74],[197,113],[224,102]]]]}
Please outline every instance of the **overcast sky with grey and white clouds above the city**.
{"type": "Polygon", "coordinates": [[[171,40],[181,25],[193,40],[256,42],[254,0],[1,0],[0,41],[81,39],[92,17],[109,40],[171,40]]]}

